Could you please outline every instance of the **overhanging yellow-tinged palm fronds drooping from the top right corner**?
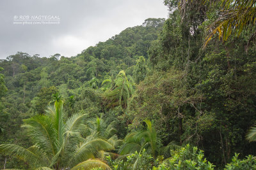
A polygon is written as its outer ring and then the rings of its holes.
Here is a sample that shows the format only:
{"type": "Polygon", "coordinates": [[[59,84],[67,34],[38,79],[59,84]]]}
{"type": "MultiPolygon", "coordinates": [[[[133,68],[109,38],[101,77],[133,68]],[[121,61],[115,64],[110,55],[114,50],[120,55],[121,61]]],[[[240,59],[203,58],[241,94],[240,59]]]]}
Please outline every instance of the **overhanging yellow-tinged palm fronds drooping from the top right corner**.
{"type": "Polygon", "coordinates": [[[254,31],[253,36],[256,34],[256,0],[180,0],[179,6],[182,15],[186,15],[184,11],[191,4],[208,7],[213,7],[215,4],[220,6],[218,18],[207,28],[205,45],[216,33],[223,41],[226,41],[232,32],[239,36],[246,29],[254,31]]]}

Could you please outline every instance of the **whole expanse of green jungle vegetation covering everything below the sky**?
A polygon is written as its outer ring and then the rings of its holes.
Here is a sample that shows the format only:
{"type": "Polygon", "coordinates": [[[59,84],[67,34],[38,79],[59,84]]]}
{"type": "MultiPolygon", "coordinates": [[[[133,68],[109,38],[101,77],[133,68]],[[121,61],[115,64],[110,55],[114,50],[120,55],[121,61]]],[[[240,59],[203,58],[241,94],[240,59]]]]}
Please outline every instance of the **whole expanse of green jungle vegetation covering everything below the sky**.
{"type": "Polygon", "coordinates": [[[0,168],[256,168],[255,26],[218,25],[239,4],[218,2],[166,0],[167,20],[75,57],[1,60],[0,168]]]}

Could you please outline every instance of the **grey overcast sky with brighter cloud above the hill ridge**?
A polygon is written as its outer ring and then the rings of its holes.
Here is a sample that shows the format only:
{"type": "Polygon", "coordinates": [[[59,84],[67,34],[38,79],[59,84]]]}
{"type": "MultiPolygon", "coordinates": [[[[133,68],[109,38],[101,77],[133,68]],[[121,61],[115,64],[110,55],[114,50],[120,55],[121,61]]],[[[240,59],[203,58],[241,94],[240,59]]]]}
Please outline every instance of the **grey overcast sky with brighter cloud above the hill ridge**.
{"type": "Polygon", "coordinates": [[[71,57],[147,18],[167,16],[163,0],[1,0],[0,59],[16,52],[71,57]]]}

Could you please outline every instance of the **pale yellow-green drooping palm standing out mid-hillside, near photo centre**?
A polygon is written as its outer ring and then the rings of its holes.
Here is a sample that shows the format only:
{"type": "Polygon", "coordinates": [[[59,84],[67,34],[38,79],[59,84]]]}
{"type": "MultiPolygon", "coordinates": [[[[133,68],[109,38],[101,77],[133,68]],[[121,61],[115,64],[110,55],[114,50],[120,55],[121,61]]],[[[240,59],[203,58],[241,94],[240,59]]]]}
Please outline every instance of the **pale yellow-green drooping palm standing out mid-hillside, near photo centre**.
{"type": "MultiPolygon", "coordinates": [[[[110,80],[103,82],[106,81],[110,80]]],[[[131,76],[126,76],[124,70],[120,71],[112,87],[102,94],[102,97],[104,97],[108,103],[107,107],[113,108],[115,106],[121,106],[122,109],[127,108],[128,99],[134,92],[133,86],[134,82],[131,76]]]]}

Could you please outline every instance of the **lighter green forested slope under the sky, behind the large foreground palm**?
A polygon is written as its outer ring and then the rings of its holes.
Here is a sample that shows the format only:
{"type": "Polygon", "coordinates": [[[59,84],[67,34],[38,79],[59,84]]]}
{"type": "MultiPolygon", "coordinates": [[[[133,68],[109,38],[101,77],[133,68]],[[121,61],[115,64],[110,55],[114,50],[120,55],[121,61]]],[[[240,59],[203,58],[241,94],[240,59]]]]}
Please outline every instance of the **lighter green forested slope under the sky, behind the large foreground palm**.
{"type": "MultiPolygon", "coordinates": [[[[55,54],[40,58],[18,52],[1,60],[0,144],[13,143],[29,148],[33,143],[24,135],[24,129],[20,129],[22,119],[45,115],[48,104],[54,103],[52,95],[56,92],[63,96],[63,109],[68,117],[84,114],[92,119],[102,115],[106,118],[106,125],[117,120],[116,127],[122,129],[118,129],[117,134],[124,137],[126,124],[118,117],[124,113],[123,109],[134,92],[131,76],[136,69],[136,60],[143,59],[141,55],[147,59],[150,42],[157,39],[163,23],[162,18],[148,18],[143,25],[125,29],[76,57],[55,54]],[[121,71],[123,69],[125,71],[121,71]]],[[[143,64],[145,67],[145,61],[143,64]]],[[[145,74],[141,73],[142,76],[145,74]]],[[[90,126],[91,130],[84,132],[92,132],[90,126]]],[[[1,168],[28,168],[28,164],[8,155],[1,157],[0,162],[1,168]]]]}

